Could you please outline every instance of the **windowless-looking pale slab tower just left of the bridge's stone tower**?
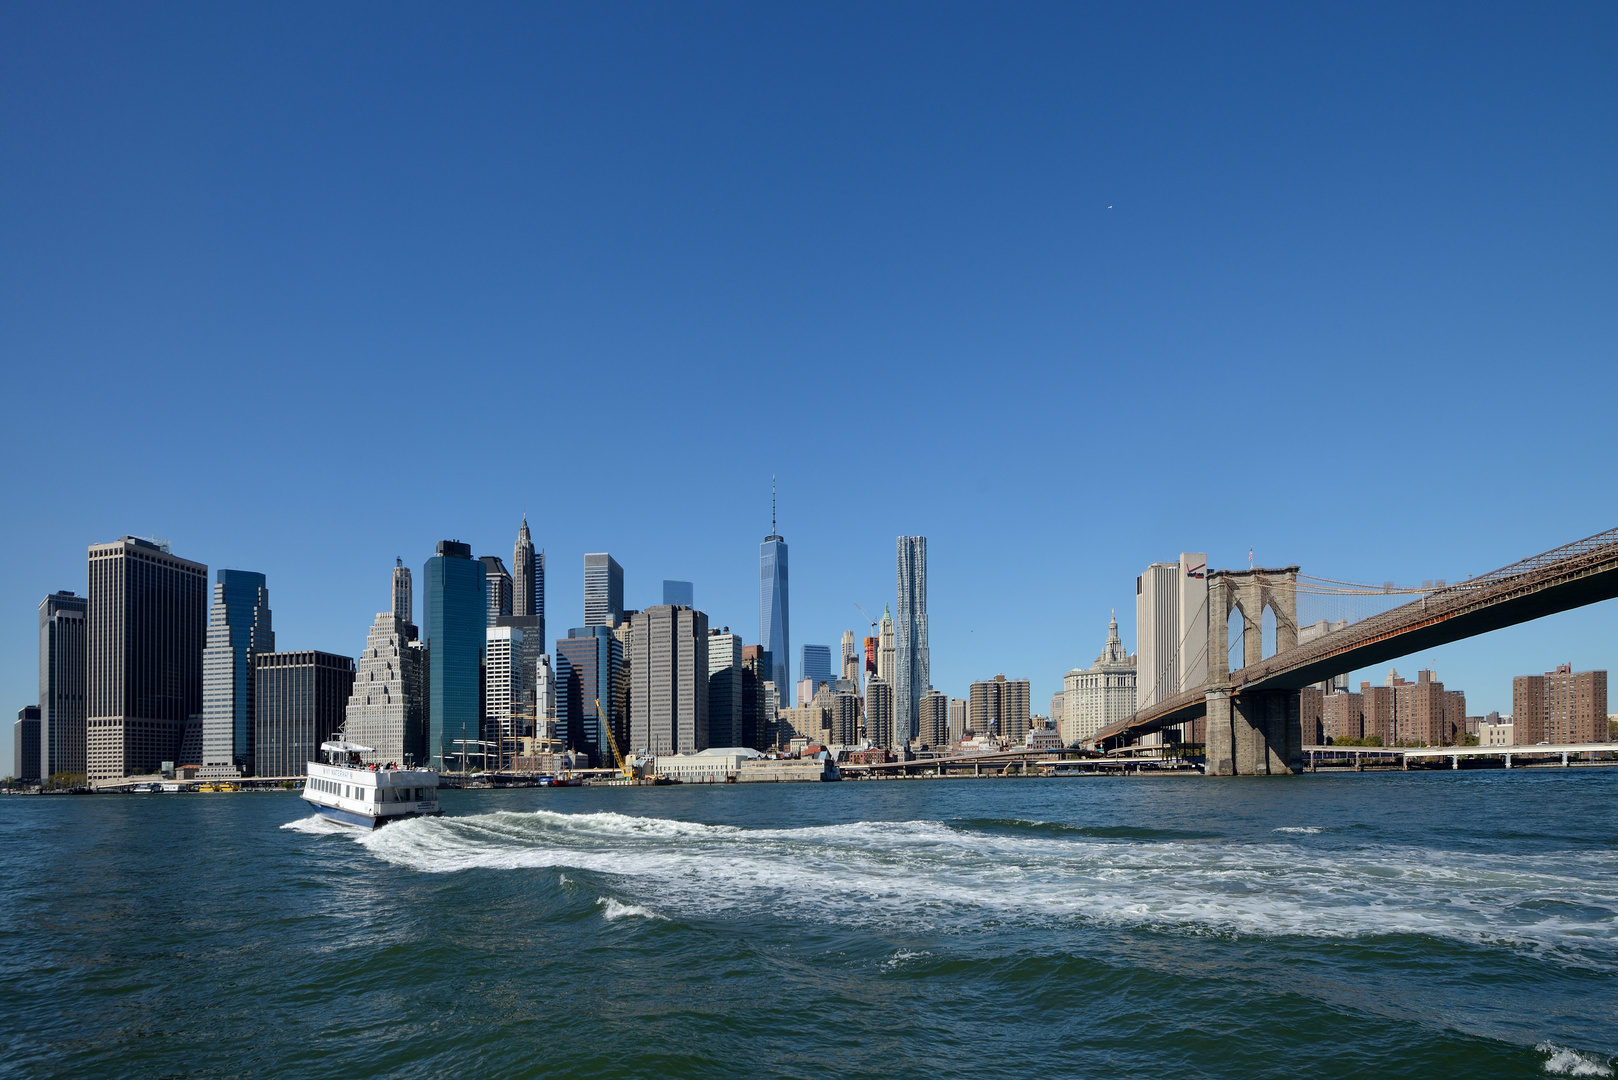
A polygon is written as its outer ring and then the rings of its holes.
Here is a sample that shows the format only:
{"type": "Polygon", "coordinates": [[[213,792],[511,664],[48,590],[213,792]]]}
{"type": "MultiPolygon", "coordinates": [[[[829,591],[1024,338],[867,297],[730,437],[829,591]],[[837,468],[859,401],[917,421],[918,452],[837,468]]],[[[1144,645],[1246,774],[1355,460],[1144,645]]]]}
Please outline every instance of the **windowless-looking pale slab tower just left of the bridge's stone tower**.
{"type": "Polygon", "coordinates": [[[1154,562],[1134,580],[1137,708],[1146,709],[1207,682],[1207,555],[1154,562]]]}

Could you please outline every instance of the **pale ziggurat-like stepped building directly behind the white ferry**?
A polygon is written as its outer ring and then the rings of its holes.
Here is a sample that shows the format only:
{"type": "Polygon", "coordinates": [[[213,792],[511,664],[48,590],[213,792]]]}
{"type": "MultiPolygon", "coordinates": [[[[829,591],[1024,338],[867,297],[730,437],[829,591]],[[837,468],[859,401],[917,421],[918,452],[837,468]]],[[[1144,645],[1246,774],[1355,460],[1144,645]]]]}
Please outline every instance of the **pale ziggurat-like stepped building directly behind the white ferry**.
{"type": "Polygon", "coordinates": [[[343,711],[348,742],[372,746],[367,763],[424,764],[427,751],[426,649],[409,623],[379,612],[354,665],[354,690],[343,711]]]}

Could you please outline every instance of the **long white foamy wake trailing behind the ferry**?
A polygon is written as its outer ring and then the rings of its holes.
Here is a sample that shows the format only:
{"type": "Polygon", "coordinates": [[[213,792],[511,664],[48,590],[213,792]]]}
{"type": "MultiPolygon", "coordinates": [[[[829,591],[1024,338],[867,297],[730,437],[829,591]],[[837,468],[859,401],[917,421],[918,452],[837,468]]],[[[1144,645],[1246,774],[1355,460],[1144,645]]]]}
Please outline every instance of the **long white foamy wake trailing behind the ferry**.
{"type": "Polygon", "coordinates": [[[741,829],[549,810],[349,834],[375,857],[424,873],[612,874],[616,891],[683,918],[770,912],[895,929],[1055,920],[1256,936],[1408,933],[1618,968],[1618,850],[1324,850],[1294,839],[1107,840],[938,821],[741,829]]]}

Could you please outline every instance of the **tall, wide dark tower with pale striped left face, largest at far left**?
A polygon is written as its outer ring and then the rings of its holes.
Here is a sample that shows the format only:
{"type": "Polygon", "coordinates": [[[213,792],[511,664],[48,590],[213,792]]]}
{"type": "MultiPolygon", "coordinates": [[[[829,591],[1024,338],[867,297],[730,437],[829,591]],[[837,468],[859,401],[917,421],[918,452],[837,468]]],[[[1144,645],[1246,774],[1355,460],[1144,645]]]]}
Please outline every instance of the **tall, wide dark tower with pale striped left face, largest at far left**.
{"type": "Polygon", "coordinates": [[[207,567],[125,536],[91,546],[89,580],[86,774],[157,772],[202,712],[207,567]]]}

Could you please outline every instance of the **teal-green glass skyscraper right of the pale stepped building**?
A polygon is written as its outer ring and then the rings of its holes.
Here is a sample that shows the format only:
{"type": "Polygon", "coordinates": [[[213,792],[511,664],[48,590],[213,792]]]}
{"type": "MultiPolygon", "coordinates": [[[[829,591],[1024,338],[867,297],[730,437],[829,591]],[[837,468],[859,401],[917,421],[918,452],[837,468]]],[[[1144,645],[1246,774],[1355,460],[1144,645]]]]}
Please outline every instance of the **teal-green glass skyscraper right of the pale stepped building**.
{"type": "Polygon", "coordinates": [[[460,766],[463,745],[482,732],[484,631],[489,628],[485,567],[469,544],[438,541],[422,568],[427,643],[427,764],[460,766]]]}

